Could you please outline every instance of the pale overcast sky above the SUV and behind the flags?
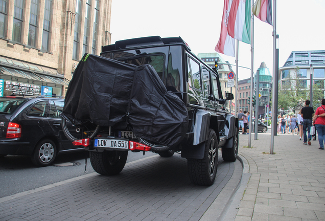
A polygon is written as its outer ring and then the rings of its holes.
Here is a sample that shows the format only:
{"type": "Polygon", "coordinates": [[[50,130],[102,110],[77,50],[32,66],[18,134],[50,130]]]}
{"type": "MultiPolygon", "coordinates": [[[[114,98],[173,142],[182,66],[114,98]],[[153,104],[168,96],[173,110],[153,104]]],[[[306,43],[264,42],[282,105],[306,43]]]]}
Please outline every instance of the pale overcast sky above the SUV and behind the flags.
{"type": "MultiPolygon", "coordinates": [[[[145,36],[180,36],[194,54],[213,53],[220,36],[223,3],[223,0],[112,0],[111,43],[145,36]]],[[[292,51],[325,50],[324,0],[278,0],[276,4],[279,67],[283,67],[292,51]]],[[[272,74],[272,30],[272,26],[254,17],[254,73],[264,61],[272,74]]],[[[220,55],[235,64],[235,57],[220,55]]],[[[240,41],[239,65],[250,68],[250,60],[250,45],[240,41]]],[[[249,78],[250,70],[240,68],[238,77],[249,78]]]]}

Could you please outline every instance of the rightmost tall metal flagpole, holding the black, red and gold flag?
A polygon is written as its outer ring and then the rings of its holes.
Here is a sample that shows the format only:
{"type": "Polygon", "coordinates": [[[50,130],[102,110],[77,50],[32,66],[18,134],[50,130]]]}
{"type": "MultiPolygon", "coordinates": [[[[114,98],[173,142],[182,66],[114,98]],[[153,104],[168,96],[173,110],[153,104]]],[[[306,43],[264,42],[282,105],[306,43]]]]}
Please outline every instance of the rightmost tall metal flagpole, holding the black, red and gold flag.
{"type": "MultiPolygon", "coordinates": [[[[275,101],[275,93],[277,93],[277,91],[275,91],[275,84],[277,85],[278,82],[276,82],[276,77],[275,75],[277,75],[278,70],[276,69],[276,0],[273,1],[273,94],[272,94],[272,127],[276,127],[276,123],[277,123],[277,111],[276,108],[277,106],[274,105],[274,101],[275,101]]],[[[273,147],[274,147],[274,129],[271,130],[271,145],[270,145],[270,154],[273,154],[273,147]]]]}

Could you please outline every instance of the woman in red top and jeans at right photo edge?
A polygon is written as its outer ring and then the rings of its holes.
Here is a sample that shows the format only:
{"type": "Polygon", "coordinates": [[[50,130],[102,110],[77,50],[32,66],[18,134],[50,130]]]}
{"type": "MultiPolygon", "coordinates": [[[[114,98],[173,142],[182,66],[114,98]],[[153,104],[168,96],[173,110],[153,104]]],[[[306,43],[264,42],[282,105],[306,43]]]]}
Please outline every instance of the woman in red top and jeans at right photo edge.
{"type": "Polygon", "coordinates": [[[321,100],[321,106],[317,107],[316,113],[313,118],[313,125],[315,125],[317,134],[319,148],[324,149],[325,142],[325,99],[321,100]]]}

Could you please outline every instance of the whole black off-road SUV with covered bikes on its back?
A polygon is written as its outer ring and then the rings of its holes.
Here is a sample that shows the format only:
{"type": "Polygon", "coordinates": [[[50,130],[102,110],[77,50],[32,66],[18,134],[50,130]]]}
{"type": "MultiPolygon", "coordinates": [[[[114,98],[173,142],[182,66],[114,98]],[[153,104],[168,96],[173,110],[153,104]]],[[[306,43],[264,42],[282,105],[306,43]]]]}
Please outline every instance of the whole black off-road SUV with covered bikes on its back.
{"type": "Polygon", "coordinates": [[[87,147],[95,171],[120,173],[128,151],[177,152],[188,159],[191,182],[208,186],[219,147],[223,160],[236,161],[238,118],[224,107],[234,95],[223,98],[217,70],[180,37],[121,40],[103,46],[101,56],[80,61],[62,114],[66,136],[87,147]],[[69,131],[67,121],[77,130],[69,131]]]}

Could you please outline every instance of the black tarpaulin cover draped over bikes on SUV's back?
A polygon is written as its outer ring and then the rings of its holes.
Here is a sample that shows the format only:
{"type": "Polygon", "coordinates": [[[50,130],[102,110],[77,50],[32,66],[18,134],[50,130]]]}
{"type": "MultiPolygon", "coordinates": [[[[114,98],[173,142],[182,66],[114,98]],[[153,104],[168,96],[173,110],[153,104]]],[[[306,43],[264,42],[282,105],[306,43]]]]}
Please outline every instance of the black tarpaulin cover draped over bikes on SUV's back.
{"type": "Polygon", "coordinates": [[[90,121],[123,129],[128,124],[137,137],[167,146],[179,143],[188,128],[186,106],[166,90],[150,64],[96,55],[79,62],[62,116],[76,125],[90,121]]]}

